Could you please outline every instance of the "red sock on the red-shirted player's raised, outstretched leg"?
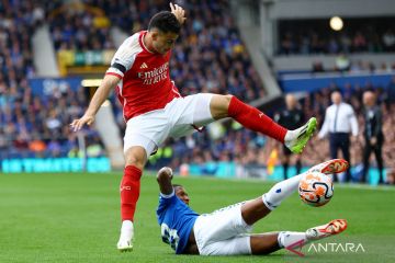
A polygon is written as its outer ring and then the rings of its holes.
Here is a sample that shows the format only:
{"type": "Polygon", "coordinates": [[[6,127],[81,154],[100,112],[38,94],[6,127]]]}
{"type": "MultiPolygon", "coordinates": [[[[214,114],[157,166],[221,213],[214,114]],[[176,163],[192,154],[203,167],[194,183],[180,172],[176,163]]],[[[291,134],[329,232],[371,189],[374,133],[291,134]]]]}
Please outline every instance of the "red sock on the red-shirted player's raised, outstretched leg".
{"type": "Polygon", "coordinates": [[[258,108],[247,105],[233,96],[228,108],[229,117],[240,123],[244,127],[259,132],[284,144],[286,128],[274,123],[258,108]]]}

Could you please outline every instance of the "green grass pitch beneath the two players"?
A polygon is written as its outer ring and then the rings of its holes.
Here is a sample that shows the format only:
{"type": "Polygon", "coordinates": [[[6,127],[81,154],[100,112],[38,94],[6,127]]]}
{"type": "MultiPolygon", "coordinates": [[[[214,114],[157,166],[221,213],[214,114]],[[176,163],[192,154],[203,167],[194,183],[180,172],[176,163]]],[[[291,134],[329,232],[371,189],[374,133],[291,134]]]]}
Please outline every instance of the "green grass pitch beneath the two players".
{"type": "MultiPolygon", "coordinates": [[[[348,219],[347,231],[323,243],[361,243],[356,252],[289,251],[269,256],[205,258],[174,255],[161,242],[155,209],[158,186],[145,174],[132,253],[115,249],[120,228],[121,173],[0,174],[0,262],[395,262],[395,190],[335,186],[332,201],[320,208],[304,205],[296,194],[255,226],[255,232],[305,230],[334,218],[348,219]]],[[[191,206],[210,213],[264,193],[260,181],[176,178],[191,206]]]]}

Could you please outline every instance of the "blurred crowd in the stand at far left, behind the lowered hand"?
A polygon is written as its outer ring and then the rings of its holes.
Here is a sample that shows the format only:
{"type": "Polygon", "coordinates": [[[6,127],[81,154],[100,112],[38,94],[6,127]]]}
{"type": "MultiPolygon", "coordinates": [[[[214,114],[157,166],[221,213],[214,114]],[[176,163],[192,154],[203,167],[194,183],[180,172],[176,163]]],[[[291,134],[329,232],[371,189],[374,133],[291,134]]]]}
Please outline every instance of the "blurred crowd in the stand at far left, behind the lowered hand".
{"type": "MultiPolygon", "coordinates": [[[[29,84],[35,77],[31,36],[46,22],[45,8],[30,0],[0,2],[0,159],[83,155],[68,124],[83,113],[84,91],[59,87],[36,95],[29,84]]],[[[97,133],[84,133],[88,155],[104,155],[97,133]]]]}

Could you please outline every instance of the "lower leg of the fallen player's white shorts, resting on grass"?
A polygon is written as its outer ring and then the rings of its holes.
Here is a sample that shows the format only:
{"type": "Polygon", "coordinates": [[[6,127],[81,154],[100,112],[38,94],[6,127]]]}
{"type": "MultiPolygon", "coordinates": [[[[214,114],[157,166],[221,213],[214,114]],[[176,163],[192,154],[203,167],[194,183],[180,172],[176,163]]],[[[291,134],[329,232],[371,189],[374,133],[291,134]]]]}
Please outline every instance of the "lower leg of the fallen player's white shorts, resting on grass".
{"type": "Polygon", "coordinates": [[[201,255],[242,255],[251,254],[251,243],[249,236],[237,236],[227,240],[213,242],[206,245],[201,255]]]}

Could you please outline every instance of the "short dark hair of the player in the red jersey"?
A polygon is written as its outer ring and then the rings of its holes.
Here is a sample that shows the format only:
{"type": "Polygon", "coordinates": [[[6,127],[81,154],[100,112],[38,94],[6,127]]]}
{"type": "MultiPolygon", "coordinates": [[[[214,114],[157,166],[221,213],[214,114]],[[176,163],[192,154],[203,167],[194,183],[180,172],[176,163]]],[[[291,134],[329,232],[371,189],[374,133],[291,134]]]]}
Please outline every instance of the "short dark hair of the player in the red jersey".
{"type": "Polygon", "coordinates": [[[180,34],[181,24],[178,22],[174,14],[169,11],[161,11],[155,14],[148,24],[148,31],[153,28],[158,28],[163,33],[176,33],[180,34]]]}

